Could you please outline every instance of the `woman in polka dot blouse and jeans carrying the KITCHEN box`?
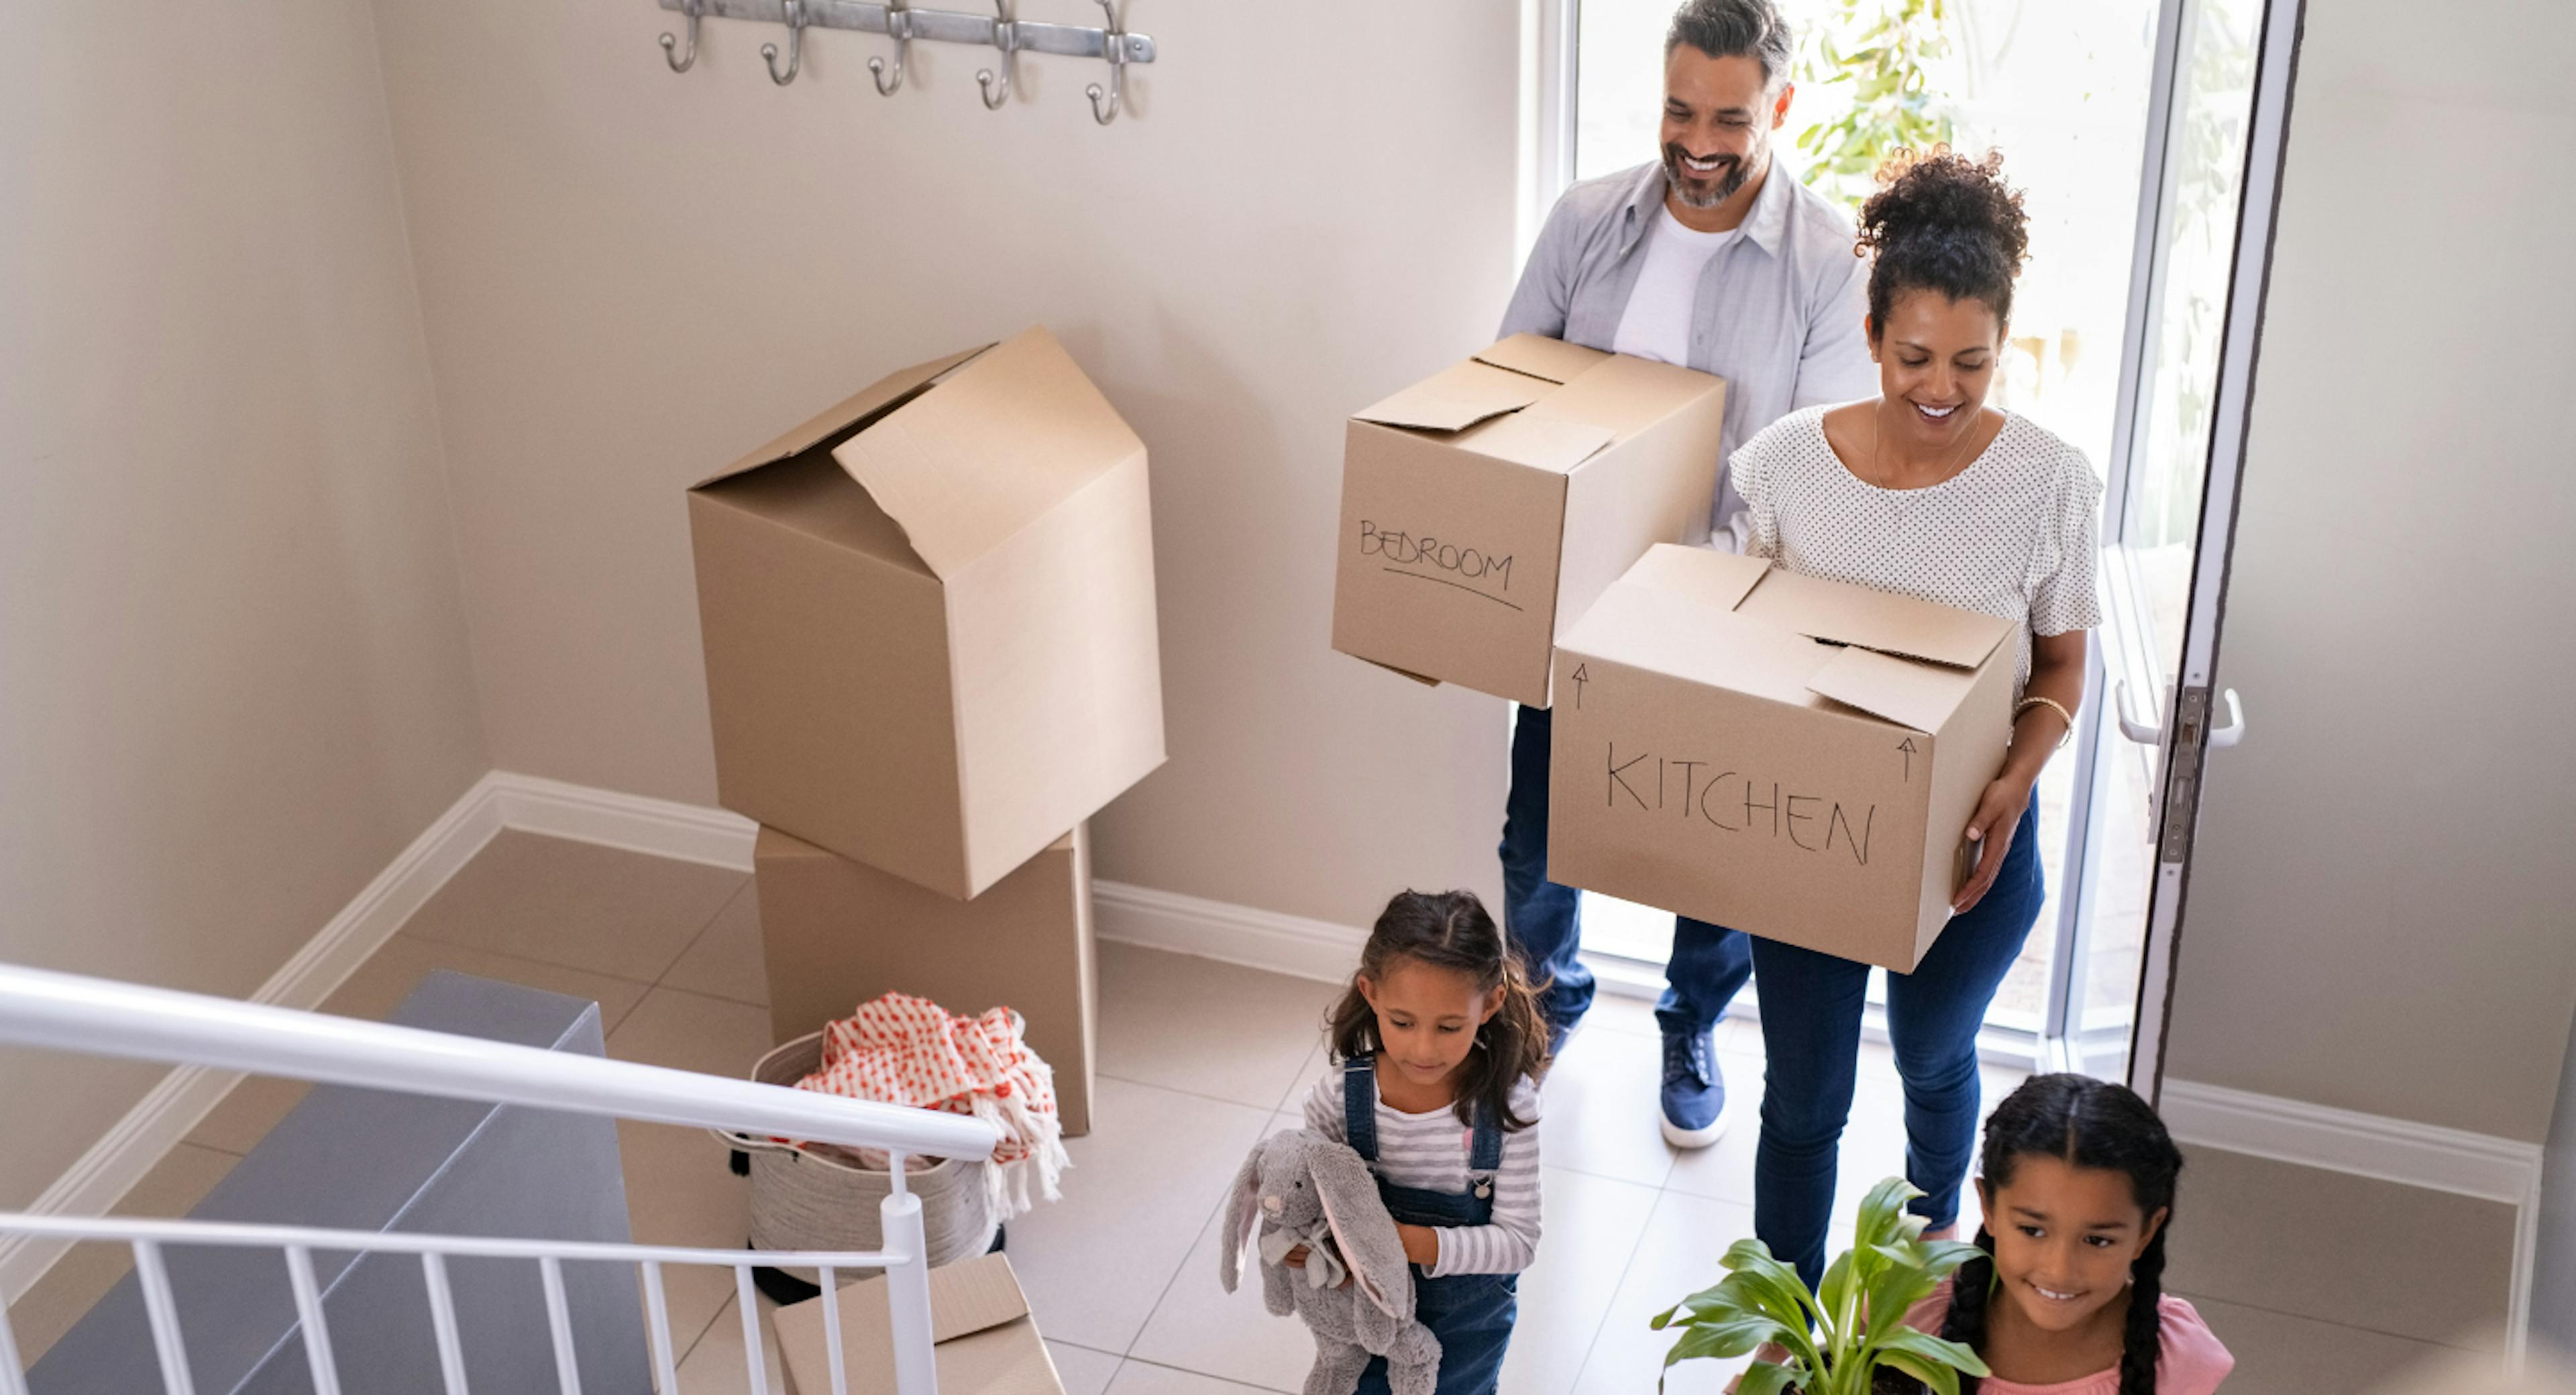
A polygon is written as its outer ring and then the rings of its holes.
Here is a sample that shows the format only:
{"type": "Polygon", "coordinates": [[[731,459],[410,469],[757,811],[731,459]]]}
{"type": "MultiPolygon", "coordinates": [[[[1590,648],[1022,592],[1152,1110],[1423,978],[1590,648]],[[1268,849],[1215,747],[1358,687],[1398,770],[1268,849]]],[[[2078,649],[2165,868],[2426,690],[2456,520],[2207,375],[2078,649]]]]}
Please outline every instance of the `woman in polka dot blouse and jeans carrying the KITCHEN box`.
{"type": "MultiPolygon", "coordinates": [[[[1932,1233],[1958,1225],[1976,1143],[1976,1030],[2040,914],[2030,798],[2074,731],[2094,602],[2094,510],[2084,453],[1989,409],[2027,250],[2022,196],[2002,157],[1904,160],[1860,211],[1873,255],[1868,337],[1880,396],[1793,412],[1731,461],[1752,556],[2017,625],[2012,749],[1968,824],[1976,870],[1914,973],[1888,975],[1888,1037],[1906,1086],[1906,1176],[1932,1233]]],[[[1754,1163],[1754,1233],[1814,1284],[1834,1205],[1834,1153],[1852,1112],[1870,968],[1754,939],[1770,1071],[1754,1163]]]]}

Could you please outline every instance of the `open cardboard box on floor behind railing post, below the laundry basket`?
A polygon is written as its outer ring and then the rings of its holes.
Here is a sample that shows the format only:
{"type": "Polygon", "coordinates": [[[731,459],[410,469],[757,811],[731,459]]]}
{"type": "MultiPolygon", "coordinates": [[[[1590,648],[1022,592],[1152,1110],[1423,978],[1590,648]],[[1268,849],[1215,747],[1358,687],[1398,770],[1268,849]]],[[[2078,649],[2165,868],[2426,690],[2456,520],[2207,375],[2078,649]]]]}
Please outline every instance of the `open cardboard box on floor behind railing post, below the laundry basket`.
{"type": "MultiPolygon", "coordinates": [[[[1108,1277],[1115,1282],[1115,1277],[1108,1277]]],[[[822,1305],[840,1305],[840,1351],[850,1395],[894,1395],[894,1315],[886,1279],[860,1279],[837,1295],[778,1310],[778,1354],[788,1390],[832,1390],[822,1305]]],[[[984,1253],[930,1271],[930,1359],[940,1395],[1064,1395],[1046,1338],[1028,1315],[1010,1259],[984,1253]]]]}

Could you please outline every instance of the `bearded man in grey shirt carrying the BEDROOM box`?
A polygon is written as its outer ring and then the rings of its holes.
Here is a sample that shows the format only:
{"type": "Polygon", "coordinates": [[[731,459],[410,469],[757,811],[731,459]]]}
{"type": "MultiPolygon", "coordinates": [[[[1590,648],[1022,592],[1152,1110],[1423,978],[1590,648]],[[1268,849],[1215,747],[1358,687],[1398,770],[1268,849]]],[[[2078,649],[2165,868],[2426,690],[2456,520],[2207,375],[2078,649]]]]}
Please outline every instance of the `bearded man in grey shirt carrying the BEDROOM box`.
{"type": "MultiPolygon", "coordinates": [[[[1687,0],[1664,36],[1664,157],[1556,201],[1502,319],[1597,350],[1726,378],[1716,543],[1739,504],[1723,456],[1775,420],[1878,391],[1862,332],[1868,265],[1852,224],[1772,160],[1788,121],[1790,33],[1772,0],[1687,0]]],[[[1558,1040],[1592,1006],[1574,888],[1548,880],[1548,713],[1520,708],[1502,824],[1504,924],[1558,1040]]],[[[1752,975],[1734,929],[1674,916],[1664,1027],[1664,1138],[1705,1148],[1726,1125],[1710,1032],[1752,975]]]]}

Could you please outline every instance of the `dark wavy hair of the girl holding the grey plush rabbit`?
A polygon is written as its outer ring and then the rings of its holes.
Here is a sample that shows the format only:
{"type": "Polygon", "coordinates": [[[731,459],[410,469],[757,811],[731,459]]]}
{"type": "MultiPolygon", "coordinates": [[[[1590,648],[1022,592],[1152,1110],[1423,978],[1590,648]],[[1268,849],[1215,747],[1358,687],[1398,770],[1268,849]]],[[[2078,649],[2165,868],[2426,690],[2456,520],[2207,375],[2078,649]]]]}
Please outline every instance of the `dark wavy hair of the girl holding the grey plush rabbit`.
{"type": "Polygon", "coordinates": [[[1378,1014],[1358,978],[1386,983],[1396,960],[1466,973],[1479,993],[1502,988],[1502,1006],[1476,1032],[1476,1050],[1458,1068],[1458,1122],[1473,1125],[1479,1104],[1504,1132],[1538,1122],[1512,1112],[1512,1089],[1522,1076],[1535,1081],[1548,1073],[1548,1019],[1520,955],[1473,891],[1399,891],[1386,903],[1360,947],[1360,973],[1324,1019],[1332,1058],[1378,1050],[1378,1014]]]}

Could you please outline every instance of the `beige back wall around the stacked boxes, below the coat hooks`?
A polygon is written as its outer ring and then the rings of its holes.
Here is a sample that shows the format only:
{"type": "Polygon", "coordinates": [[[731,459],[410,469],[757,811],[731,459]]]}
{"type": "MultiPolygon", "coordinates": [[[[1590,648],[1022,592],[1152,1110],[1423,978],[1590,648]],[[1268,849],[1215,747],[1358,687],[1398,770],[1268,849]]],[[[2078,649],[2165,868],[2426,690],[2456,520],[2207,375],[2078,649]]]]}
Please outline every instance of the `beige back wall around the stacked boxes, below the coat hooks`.
{"type": "MultiPolygon", "coordinates": [[[[1087,0],[1020,18],[1095,23],[1087,0]]],[[[1329,649],[1342,414],[1481,347],[1512,265],[1517,5],[1133,0],[1105,64],[644,0],[384,3],[495,764],[714,800],[683,489],[878,373],[1046,322],[1151,448],[1170,764],[1105,878],[1360,924],[1492,891],[1504,705],[1329,649]]]]}

